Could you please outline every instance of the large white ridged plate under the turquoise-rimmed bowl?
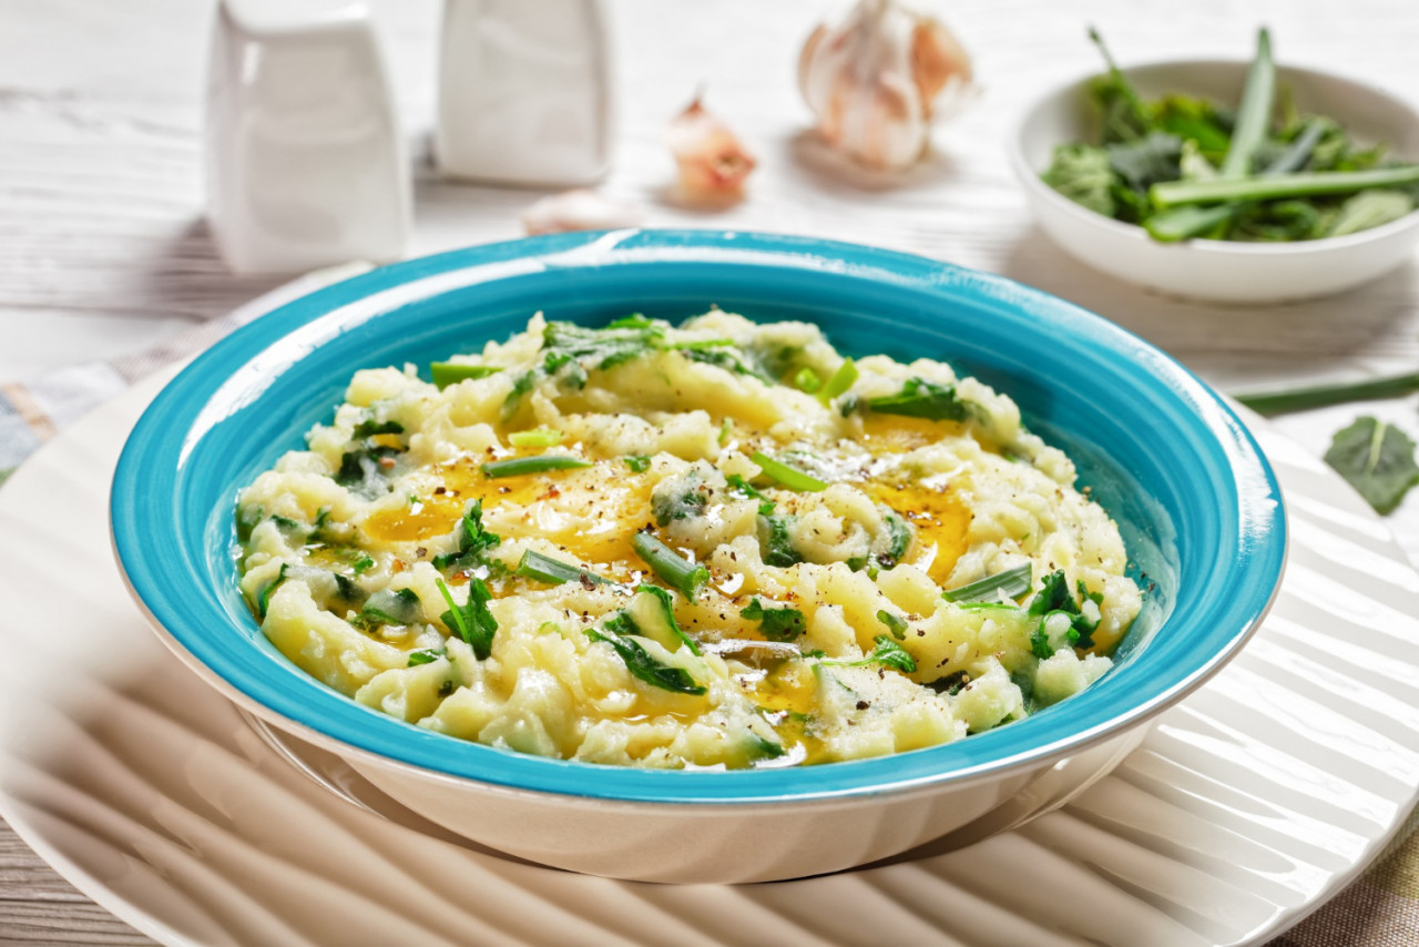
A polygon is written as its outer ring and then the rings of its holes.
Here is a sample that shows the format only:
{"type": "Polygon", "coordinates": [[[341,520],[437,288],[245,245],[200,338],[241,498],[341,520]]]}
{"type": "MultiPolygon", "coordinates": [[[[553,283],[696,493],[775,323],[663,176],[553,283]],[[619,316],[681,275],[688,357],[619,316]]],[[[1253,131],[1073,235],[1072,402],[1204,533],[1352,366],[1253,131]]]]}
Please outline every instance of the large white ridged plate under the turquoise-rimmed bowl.
{"type": "Polygon", "coordinates": [[[1064,809],[948,855],[741,887],[473,850],[319,787],[146,628],[106,500],[165,381],[67,429],[0,491],[0,815],[160,941],[1246,943],[1340,890],[1415,802],[1419,575],[1332,473],[1261,429],[1293,531],[1274,611],[1064,809]]]}

